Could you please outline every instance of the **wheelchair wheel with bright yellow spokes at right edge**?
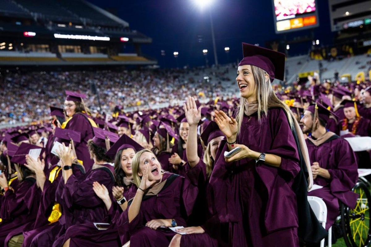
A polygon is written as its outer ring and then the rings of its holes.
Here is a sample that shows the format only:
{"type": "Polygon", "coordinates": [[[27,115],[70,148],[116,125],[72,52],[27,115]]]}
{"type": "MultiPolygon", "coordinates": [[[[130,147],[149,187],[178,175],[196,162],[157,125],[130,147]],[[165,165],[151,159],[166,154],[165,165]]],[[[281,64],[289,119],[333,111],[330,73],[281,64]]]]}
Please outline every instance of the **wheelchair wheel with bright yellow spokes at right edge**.
{"type": "Polygon", "coordinates": [[[367,186],[358,182],[352,189],[359,195],[354,209],[341,204],[341,226],[348,247],[368,247],[371,243],[370,205],[371,194],[367,186]]]}

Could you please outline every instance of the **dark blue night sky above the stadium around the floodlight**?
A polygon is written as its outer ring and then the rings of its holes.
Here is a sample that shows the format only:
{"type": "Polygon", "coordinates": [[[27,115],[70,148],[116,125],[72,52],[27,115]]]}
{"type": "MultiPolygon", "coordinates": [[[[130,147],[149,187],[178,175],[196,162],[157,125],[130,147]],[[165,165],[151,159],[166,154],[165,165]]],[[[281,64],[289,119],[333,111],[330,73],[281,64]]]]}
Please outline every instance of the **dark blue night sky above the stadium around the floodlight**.
{"type": "MultiPolygon", "coordinates": [[[[118,16],[137,30],[153,39],[143,45],[147,56],[158,60],[162,67],[201,66],[205,64],[203,49],[207,49],[210,63],[214,63],[209,9],[200,10],[193,0],[89,0],[102,9],[114,9],[118,16]],[[201,43],[199,38],[201,37],[201,43]],[[165,56],[161,56],[165,50],[165,56]],[[178,51],[178,61],[173,52],[178,51]]],[[[214,0],[210,7],[219,64],[242,59],[241,43],[259,43],[285,40],[310,35],[310,30],[275,34],[272,0],[214,0]],[[230,47],[229,54],[224,47],[230,47]]],[[[331,44],[329,7],[327,0],[318,0],[319,24],[313,29],[321,45],[331,44]]],[[[311,42],[291,45],[289,55],[306,54],[311,42]]]]}

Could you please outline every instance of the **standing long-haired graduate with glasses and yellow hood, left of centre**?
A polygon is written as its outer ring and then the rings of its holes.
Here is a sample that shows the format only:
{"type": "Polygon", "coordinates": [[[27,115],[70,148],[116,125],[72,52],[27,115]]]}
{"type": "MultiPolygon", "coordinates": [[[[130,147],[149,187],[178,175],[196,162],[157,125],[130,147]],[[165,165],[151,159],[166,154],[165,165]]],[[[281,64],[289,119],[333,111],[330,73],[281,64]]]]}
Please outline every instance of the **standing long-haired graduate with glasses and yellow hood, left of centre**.
{"type": "Polygon", "coordinates": [[[93,127],[97,126],[87,115],[86,106],[83,103],[86,95],[71,91],[66,91],[66,94],[64,107],[69,119],[62,123],[62,128],[81,133],[81,141],[75,143],[75,151],[78,160],[82,161],[82,165],[88,173],[93,166],[93,160],[90,158],[86,145],[88,140],[94,137],[93,127]]]}

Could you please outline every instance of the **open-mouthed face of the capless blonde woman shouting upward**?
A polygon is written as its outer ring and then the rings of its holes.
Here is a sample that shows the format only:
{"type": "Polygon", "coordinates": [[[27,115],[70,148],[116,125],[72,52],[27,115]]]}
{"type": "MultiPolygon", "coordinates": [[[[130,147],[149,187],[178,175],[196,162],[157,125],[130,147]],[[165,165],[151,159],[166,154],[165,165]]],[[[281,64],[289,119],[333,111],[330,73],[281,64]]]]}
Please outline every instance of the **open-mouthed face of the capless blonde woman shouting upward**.
{"type": "Polygon", "coordinates": [[[158,162],[156,156],[151,152],[144,152],[139,157],[139,169],[138,175],[143,176],[144,169],[148,166],[148,180],[149,181],[160,181],[161,164],[158,162]]]}

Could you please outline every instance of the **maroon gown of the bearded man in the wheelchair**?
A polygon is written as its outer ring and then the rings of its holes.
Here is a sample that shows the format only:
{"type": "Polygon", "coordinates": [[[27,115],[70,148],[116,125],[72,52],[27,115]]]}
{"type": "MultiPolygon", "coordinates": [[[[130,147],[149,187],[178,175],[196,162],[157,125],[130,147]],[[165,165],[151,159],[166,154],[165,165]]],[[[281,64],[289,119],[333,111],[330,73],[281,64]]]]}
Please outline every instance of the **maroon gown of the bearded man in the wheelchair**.
{"type": "Polygon", "coordinates": [[[318,162],[331,175],[331,179],[317,176],[314,184],[323,188],[308,192],[308,196],[317,196],[325,201],[328,230],[339,215],[339,200],[350,208],[357,203],[358,195],[351,191],[358,179],[357,161],[348,141],[336,134],[319,143],[313,143],[310,138],[305,141],[311,163],[318,162]]]}

